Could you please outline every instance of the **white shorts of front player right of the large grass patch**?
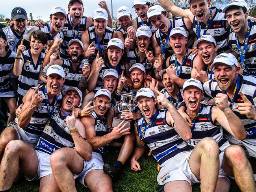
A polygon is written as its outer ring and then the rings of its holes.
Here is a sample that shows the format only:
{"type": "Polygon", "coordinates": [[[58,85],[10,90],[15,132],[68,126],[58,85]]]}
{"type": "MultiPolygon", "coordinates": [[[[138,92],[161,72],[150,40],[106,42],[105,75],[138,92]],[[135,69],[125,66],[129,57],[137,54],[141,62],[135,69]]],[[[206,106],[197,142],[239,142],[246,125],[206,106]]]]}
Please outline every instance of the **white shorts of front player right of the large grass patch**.
{"type": "Polygon", "coordinates": [[[163,186],[171,181],[184,180],[190,185],[200,183],[189,167],[189,157],[192,151],[178,153],[161,165],[161,170],[157,176],[159,191],[163,191],[163,186]]]}

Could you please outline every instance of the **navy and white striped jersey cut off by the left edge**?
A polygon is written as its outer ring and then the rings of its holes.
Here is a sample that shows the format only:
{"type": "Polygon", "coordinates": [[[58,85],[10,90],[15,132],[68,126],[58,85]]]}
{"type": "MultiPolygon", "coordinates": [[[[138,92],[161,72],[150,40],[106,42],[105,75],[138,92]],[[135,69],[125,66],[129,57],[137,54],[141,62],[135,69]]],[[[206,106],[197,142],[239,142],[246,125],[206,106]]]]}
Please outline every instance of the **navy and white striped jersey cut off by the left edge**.
{"type": "Polygon", "coordinates": [[[0,57],[0,98],[14,97],[13,86],[11,85],[10,74],[13,74],[15,52],[6,49],[7,54],[0,57]]]}

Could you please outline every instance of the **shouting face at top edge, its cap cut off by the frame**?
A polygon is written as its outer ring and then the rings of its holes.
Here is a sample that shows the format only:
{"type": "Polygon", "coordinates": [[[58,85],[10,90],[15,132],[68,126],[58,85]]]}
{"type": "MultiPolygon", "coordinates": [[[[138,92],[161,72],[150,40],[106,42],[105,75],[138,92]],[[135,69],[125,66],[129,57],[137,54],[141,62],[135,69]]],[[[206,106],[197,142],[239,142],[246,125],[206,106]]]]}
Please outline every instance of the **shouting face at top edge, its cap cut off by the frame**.
{"type": "Polygon", "coordinates": [[[199,22],[208,20],[210,0],[191,0],[189,9],[199,22]]]}

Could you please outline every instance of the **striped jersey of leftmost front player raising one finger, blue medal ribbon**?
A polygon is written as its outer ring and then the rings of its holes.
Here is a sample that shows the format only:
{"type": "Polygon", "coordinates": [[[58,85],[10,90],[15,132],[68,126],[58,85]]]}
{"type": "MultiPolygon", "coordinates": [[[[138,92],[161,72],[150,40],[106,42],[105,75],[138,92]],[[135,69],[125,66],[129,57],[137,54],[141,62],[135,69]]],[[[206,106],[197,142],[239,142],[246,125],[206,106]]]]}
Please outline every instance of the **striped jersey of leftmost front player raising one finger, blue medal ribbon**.
{"type": "MultiPolygon", "coordinates": [[[[46,85],[41,85],[38,90],[38,93],[41,93],[43,96],[43,101],[35,109],[28,126],[23,128],[24,131],[34,134],[34,135],[38,135],[38,136],[40,136],[42,134],[43,129],[46,125],[46,122],[50,118],[49,114],[48,114],[48,110],[47,110],[47,103],[46,103],[46,98],[45,98],[45,93],[44,93],[45,86],[46,85]]],[[[35,89],[35,88],[36,87],[33,87],[32,89],[35,89]]],[[[59,107],[61,106],[61,103],[62,103],[62,98],[63,98],[63,94],[61,92],[60,95],[58,95],[58,100],[57,100],[55,108],[54,108],[54,101],[52,103],[50,103],[50,116],[53,112],[53,109],[54,109],[54,111],[59,110],[59,107]]]]}

